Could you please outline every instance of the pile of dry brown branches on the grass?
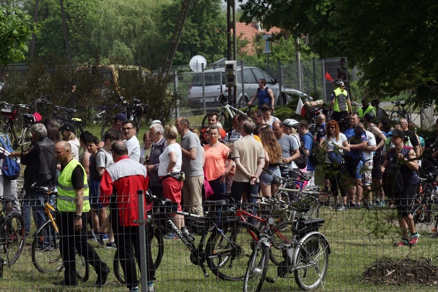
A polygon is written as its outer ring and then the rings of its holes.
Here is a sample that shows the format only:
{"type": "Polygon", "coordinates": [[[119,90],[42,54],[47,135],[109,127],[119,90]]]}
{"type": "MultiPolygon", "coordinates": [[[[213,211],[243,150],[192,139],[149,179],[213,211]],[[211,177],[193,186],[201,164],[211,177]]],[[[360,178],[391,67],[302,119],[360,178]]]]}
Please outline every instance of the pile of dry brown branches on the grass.
{"type": "Polygon", "coordinates": [[[362,280],[371,284],[384,285],[438,285],[438,267],[432,259],[419,261],[409,258],[403,260],[381,259],[365,268],[362,280]]]}

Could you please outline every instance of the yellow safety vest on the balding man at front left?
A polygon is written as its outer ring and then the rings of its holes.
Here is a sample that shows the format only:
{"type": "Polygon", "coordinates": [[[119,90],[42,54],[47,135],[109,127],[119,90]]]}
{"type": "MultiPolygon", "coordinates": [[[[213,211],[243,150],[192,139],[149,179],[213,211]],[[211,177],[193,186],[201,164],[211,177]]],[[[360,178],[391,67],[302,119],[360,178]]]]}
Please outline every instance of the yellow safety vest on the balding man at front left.
{"type": "MultiPolygon", "coordinates": [[[[71,174],[77,166],[81,166],[76,159],[71,159],[70,162],[65,166],[58,178],[58,199],[57,205],[58,210],[62,212],[75,212],[76,211],[76,191],[71,184],[71,174]]],[[[88,184],[87,175],[84,170],[84,204],[82,207],[82,212],[88,212],[90,210],[90,203],[88,202],[88,184]]]]}

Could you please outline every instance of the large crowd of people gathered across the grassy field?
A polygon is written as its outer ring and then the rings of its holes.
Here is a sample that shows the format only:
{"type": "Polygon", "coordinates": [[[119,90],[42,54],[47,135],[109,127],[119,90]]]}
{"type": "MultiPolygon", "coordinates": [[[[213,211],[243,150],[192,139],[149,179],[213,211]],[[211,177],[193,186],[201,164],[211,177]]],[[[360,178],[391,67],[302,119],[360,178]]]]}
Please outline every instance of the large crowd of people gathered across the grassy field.
{"type": "MultiPolygon", "coordinates": [[[[265,84],[261,81],[261,85],[265,84]]],[[[315,184],[319,172],[324,178],[324,191],[333,194],[338,211],[362,205],[375,208],[388,204],[396,208],[403,238],[395,245],[416,244],[419,235],[408,206],[417,190],[424,141],[410,130],[415,125],[409,125],[406,119],[388,129],[378,101],[370,105],[363,99],[362,107],[353,113],[343,82],[336,80],[334,87],[332,119],[321,114],[315,135],[309,132],[305,120],[281,121],[273,116],[269,90],[264,96],[268,103],[259,104],[252,117],[235,115],[231,129],[223,129],[215,112],[208,115],[209,125],[200,131],[191,128],[186,117],[179,117],[170,125],[155,120],[149,131],[140,135],[141,145],[137,139],[139,129],[122,113],[114,117],[111,129],[101,139],[87,131],[78,139],[75,125],[68,122],[59,129],[51,119],[33,125],[30,147],[11,156],[21,157],[26,165],[26,195],[21,210],[26,236],[31,213],[37,229],[45,222],[43,195],[31,186],[58,187],[57,222],[65,270],[63,280],[54,284],[77,285],[75,250],[94,267],[96,285],[106,282],[109,268],[87,242],[91,236],[100,245],[118,249],[126,286],[137,291],[137,190],[149,188],[154,195],[177,203],[178,210],[203,215],[202,202],[206,199],[223,199],[228,194],[236,202],[255,203],[257,199],[250,194],[270,197],[279,181],[263,168],[288,175],[288,168],[279,162],[304,172],[310,185],[315,184]],[[308,159],[304,166],[299,162],[303,155],[310,156],[315,151],[322,156],[321,162],[308,159]],[[385,184],[394,179],[400,182],[399,189],[394,188],[397,184],[385,184]]],[[[438,120],[436,127],[438,130],[438,120]]],[[[431,157],[437,156],[434,149],[431,157]]],[[[12,188],[11,184],[1,181],[4,193],[9,193],[5,188],[12,188]]],[[[12,206],[16,198],[8,201],[12,206]]],[[[148,203],[144,207],[149,211],[152,208],[148,203]]],[[[221,210],[216,209],[215,213],[220,222],[221,210]]],[[[172,216],[179,230],[185,227],[182,215],[172,216]]],[[[166,238],[178,236],[170,231],[166,238]]],[[[153,291],[155,271],[150,241],[147,242],[148,289],[153,291]]],[[[40,248],[45,248],[42,244],[40,248]]]]}

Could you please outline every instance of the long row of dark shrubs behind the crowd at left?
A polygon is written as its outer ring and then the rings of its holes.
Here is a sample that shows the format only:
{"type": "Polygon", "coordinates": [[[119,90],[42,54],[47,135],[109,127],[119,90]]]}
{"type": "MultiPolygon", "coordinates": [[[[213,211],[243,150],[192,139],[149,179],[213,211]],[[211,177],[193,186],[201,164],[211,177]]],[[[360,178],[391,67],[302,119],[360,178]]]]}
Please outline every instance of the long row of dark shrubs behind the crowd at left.
{"type": "Polygon", "coordinates": [[[105,106],[109,116],[122,111],[120,95],[130,103],[136,98],[149,107],[144,120],[160,119],[167,122],[179,99],[178,94],[167,90],[173,76],[163,77],[161,72],[152,74],[142,68],[139,74],[138,67],[116,66],[117,82],[110,83],[105,88],[109,94],[102,95],[102,81],[105,80],[102,69],[108,71],[108,66],[102,65],[100,58],[95,58],[89,69],[86,66],[78,69],[62,64],[66,64],[65,59],[47,57],[35,60],[22,71],[11,67],[8,86],[2,96],[14,103],[31,104],[41,112],[43,118],[50,116],[53,108],[36,104],[38,98],[60,106],[77,108],[77,117],[85,124],[93,121],[102,106],[105,106]],[[74,84],[77,90],[72,93],[71,86],[74,84]]]}

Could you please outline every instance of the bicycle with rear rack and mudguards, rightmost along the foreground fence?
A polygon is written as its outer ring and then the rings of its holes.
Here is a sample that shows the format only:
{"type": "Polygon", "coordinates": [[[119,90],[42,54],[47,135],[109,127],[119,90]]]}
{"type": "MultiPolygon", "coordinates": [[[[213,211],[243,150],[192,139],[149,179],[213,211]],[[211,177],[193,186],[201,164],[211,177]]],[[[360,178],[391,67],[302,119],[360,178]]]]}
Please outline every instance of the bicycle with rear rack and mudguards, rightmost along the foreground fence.
{"type": "Polygon", "coordinates": [[[302,290],[314,290],[323,285],[322,282],[328,268],[328,255],[331,253],[330,244],[328,244],[325,236],[318,231],[325,220],[304,220],[299,216],[291,227],[293,237],[290,240],[285,237],[284,242],[278,243],[273,240],[276,228],[273,225],[275,217],[271,215],[272,212],[278,209],[290,208],[296,213],[302,214],[308,208],[306,206],[308,203],[301,201],[285,205],[284,202],[276,198],[267,199],[257,195],[251,196],[260,199],[271,209],[266,210],[265,227],[262,229],[260,240],[256,243],[248,262],[243,291],[258,292],[265,281],[275,283],[278,277],[288,278],[291,273],[294,273],[295,281],[302,290]],[[283,258],[283,261],[278,265],[275,279],[266,278],[269,266],[268,258],[272,247],[281,250],[283,258]]]}

